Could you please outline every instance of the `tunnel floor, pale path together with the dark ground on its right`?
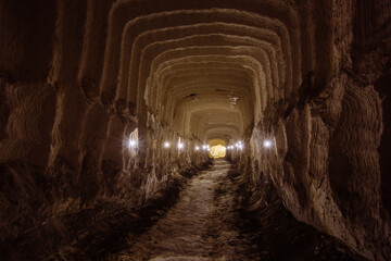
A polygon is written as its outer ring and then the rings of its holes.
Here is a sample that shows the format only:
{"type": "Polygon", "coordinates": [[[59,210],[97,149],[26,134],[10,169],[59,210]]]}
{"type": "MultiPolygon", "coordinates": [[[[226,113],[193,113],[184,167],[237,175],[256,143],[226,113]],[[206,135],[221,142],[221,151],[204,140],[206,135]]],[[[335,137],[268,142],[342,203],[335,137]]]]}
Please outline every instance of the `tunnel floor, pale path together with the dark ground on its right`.
{"type": "Polygon", "coordinates": [[[109,260],[362,260],[335,238],[295,221],[280,203],[243,211],[231,165],[216,159],[142,235],[109,260]]]}

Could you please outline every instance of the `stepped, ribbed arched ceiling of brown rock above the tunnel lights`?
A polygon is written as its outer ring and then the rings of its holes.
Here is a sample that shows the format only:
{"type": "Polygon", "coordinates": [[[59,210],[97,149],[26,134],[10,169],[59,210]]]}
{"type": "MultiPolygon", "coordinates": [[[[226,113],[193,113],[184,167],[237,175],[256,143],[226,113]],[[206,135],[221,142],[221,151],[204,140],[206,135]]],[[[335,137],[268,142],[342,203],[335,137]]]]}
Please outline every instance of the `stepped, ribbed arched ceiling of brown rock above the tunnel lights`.
{"type": "Polygon", "coordinates": [[[116,1],[101,92],[181,136],[239,139],[301,84],[299,26],[293,0],[116,1]]]}

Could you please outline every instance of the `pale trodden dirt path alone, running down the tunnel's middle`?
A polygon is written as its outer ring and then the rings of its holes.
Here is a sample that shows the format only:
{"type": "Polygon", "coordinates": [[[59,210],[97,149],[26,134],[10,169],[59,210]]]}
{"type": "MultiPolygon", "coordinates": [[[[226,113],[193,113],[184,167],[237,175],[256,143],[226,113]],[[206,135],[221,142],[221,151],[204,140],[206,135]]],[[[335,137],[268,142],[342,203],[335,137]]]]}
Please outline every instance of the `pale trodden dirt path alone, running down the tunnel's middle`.
{"type": "Polygon", "coordinates": [[[229,167],[215,160],[211,170],[193,177],[178,202],[117,260],[232,260],[248,244],[234,222],[229,167]]]}

